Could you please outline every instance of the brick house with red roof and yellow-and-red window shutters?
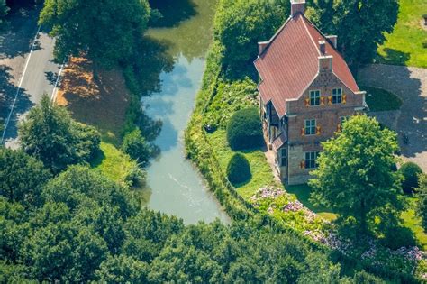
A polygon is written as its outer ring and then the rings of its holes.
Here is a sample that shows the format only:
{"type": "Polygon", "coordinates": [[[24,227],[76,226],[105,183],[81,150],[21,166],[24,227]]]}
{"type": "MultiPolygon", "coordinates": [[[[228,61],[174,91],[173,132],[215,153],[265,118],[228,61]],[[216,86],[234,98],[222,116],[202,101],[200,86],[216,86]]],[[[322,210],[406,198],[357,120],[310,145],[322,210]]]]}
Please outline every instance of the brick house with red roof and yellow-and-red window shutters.
{"type": "Polygon", "coordinates": [[[259,42],[260,113],[276,168],[289,185],[303,184],[317,167],[321,142],[366,109],[336,36],[323,35],[291,0],[291,15],[269,40],[259,42]]]}

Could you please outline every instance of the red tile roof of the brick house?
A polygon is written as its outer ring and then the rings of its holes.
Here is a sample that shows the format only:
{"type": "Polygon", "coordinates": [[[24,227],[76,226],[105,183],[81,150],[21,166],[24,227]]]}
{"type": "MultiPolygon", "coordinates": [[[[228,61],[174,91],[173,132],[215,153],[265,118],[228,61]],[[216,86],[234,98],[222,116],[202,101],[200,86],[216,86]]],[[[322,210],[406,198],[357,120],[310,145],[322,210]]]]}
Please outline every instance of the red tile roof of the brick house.
{"type": "Polygon", "coordinates": [[[332,55],[332,72],[353,92],[359,87],[347,63],[325,36],[303,14],[289,18],[255,60],[261,77],[259,94],[271,101],[280,117],[286,114],[286,100],[298,99],[319,71],[319,41],[326,41],[326,54],[332,55]]]}

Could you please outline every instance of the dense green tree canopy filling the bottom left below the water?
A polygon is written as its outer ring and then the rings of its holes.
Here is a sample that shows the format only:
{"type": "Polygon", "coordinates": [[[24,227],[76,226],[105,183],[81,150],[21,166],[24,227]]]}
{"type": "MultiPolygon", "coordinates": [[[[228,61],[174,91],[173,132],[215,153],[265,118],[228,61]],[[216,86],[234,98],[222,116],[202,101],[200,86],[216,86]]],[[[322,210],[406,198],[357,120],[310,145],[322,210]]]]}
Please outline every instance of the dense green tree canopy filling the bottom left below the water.
{"type": "Polygon", "coordinates": [[[2,282],[341,279],[339,264],[293,234],[253,220],[184,226],[141,209],[135,192],[83,166],[69,167],[36,194],[41,204],[27,209],[0,197],[2,282]]]}

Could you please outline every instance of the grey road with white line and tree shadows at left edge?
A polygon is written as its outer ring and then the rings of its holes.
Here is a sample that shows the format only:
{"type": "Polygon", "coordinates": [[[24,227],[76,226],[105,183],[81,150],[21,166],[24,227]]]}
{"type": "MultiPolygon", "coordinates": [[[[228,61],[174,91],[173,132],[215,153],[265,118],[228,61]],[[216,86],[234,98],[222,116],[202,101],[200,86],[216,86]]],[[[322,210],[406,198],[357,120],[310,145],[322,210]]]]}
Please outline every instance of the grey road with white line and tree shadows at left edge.
{"type": "Polygon", "coordinates": [[[5,129],[0,143],[18,148],[18,123],[52,96],[60,70],[53,62],[55,40],[37,26],[38,10],[21,10],[9,16],[0,33],[0,117],[5,129]]]}

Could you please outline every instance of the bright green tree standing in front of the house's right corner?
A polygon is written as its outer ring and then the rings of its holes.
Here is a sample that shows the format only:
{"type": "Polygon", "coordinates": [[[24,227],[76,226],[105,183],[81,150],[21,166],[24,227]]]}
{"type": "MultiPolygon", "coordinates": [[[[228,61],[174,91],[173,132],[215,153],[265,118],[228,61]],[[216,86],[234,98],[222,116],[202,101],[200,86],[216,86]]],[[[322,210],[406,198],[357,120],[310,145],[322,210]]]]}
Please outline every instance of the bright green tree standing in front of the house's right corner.
{"type": "Polygon", "coordinates": [[[392,169],[398,161],[396,134],[381,130],[374,118],[352,117],[342,132],[323,142],[313,170],[313,201],[332,207],[346,219],[354,217],[359,229],[367,233],[368,222],[374,221],[382,207],[400,208],[402,176],[392,169]]]}

